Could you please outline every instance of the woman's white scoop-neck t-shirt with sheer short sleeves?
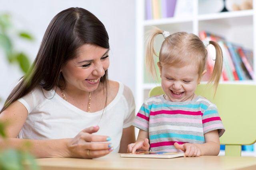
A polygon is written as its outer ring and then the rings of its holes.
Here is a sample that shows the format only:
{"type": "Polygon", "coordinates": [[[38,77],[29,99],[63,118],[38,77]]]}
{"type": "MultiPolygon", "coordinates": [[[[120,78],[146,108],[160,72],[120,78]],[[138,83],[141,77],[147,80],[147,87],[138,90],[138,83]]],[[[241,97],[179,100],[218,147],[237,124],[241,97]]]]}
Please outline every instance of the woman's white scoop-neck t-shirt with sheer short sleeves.
{"type": "Polygon", "coordinates": [[[130,127],[135,117],[131,90],[119,82],[119,90],[107,107],[88,113],[68,103],[54,90],[36,88],[18,99],[28,110],[28,117],[18,135],[21,139],[63,139],[75,137],[83,129],[98,125],[96,135],[111,137],[118,152],[123,128],[130,127]]]}

